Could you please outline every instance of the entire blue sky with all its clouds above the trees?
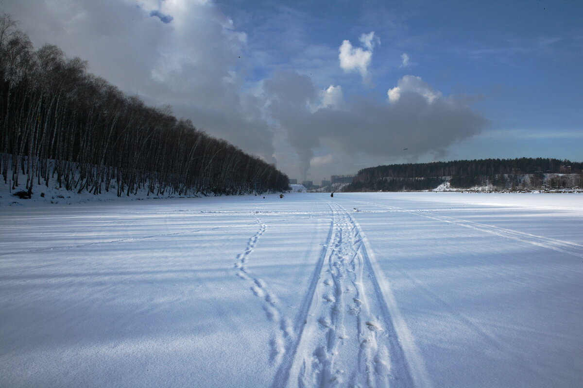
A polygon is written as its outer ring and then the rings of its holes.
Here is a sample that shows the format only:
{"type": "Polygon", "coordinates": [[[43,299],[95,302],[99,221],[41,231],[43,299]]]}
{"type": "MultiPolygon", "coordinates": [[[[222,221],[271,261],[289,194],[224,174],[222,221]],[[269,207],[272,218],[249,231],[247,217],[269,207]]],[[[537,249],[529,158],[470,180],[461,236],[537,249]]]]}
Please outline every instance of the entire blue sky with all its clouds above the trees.
{"type": "Polygon", "coordinates": [[[59,45],[300,180],[395,162],[583,160],[581,1],[3,0],[0,11],[36,47],[59,45]]]}

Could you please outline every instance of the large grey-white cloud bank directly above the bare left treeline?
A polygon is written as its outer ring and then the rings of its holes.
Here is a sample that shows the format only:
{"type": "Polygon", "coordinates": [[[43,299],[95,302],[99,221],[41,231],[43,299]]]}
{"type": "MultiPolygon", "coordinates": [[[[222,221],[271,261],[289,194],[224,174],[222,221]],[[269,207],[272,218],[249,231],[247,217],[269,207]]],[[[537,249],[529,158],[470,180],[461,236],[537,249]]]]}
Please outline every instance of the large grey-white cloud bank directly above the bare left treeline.
{"type": "Polygon", "coordinates": [[[35,3],[10,2],[4,12],[36,47],[56,44],[128,94],[170,104],[199,129],[275,162],[264,101],[245,84],[247,35],[212,1],[35,3]]]}

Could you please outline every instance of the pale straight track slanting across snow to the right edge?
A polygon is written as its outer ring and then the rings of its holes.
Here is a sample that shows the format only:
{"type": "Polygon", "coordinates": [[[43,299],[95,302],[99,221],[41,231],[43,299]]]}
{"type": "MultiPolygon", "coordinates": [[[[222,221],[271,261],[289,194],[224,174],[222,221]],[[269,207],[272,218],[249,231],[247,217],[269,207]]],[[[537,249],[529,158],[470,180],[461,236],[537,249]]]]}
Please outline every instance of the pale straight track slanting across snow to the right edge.
{"type": "Polygon", "coordinates": [[[527,243],[531,245],[536,245],[537,247],[547,248],[553,251],[562,252],[571,256],[578,258],[583,258],[583,245],[573,243],[570,241],[563,241],[552,239],[550,237],[536,236],[535,234],[518,232],[517,230],[505,229],[503,227],[498,227],[494,225],[485,225],[483,223],[473,222],[469,220],[463,220],[459,218],[454,218],[450,216],[437,215],[433,212],[419,211],[419,210],[408,210],[398,207],[392,207],[387,205],[378,205],[372,202],[359,201],[361,204],[373,205],[375,207],[391,209],[393,211],[415,214],[417,216],[422,216],[425,218],[434,219],[437,221],[447,222],[454,225],[459,225],[463,227],[468,227],[470,229],[479,230],[480,232],[494,234],[496,236],[505,237],[506,239],[521,241],[522,243],[527,243]]]}

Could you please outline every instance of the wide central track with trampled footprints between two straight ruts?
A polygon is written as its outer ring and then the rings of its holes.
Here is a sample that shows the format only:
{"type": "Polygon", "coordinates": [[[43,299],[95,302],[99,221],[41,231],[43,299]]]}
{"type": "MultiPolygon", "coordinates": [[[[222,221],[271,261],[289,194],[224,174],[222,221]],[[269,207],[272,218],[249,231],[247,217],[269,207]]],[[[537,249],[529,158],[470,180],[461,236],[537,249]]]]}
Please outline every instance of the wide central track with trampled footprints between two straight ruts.
{"type": "Polygon", "coordinates": [[[328,205],[328,243],[296,321],[298,338],[288,344],[273,386],[412,387],[360,227],[344,208],[328,205]]]}

